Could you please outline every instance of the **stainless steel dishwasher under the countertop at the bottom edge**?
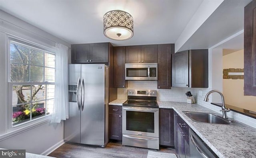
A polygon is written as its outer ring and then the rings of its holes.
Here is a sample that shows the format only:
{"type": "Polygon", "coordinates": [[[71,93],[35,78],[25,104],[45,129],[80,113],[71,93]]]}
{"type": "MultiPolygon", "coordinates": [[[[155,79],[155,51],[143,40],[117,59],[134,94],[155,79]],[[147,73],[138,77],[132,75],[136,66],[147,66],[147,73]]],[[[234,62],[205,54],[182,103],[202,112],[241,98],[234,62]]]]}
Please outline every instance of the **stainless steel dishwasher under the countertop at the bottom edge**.
{"type": "Polygon", "coordinates": [[[189,138],[189,158],[218,158],[192,129],[189,129],[189,138]]]}

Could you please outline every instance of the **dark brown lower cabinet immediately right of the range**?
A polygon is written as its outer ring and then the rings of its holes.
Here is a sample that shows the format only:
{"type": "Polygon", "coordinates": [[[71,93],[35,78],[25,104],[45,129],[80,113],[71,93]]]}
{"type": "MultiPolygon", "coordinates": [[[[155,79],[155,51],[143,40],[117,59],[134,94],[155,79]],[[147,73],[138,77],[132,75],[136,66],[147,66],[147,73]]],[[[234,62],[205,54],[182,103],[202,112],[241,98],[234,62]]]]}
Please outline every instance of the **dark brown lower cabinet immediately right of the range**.
{"type": "Polygon", "coordinates": [[[174,146],[174,110],[159,109],[160,145],[174,146]]]}

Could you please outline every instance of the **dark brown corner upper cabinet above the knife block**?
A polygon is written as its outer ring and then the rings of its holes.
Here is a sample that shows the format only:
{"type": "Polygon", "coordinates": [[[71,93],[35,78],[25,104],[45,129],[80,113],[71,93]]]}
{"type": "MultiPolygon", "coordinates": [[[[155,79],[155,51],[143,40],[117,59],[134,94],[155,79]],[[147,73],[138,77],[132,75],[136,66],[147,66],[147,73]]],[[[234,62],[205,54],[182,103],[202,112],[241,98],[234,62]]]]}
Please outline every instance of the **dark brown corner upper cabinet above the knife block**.
{"type": "Polygon", "coordinates": [[[208,49],[173,54],[172,86],[208,88],[208,49]]]}

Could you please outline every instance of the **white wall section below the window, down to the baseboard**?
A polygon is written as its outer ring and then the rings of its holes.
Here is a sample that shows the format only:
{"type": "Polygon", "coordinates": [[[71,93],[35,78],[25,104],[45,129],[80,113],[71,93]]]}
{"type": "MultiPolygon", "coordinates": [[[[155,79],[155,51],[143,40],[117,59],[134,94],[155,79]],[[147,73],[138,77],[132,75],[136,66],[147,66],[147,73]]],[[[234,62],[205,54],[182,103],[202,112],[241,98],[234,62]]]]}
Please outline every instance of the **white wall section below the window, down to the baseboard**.
{"type": "Polygon", "coordinates": [[[26,149],[34,154],[50,154],[64,143],[64,123],[45,123],[28,131],[23,131],[0,141],[0,148],[26,149]]]}

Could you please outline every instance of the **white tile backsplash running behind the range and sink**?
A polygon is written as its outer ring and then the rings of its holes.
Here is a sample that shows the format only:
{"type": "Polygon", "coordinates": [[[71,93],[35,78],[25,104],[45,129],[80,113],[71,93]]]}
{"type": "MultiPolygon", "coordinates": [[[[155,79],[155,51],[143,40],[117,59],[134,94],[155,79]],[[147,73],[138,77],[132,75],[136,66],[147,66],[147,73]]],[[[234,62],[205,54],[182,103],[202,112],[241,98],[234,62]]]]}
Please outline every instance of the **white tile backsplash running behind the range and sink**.
{"type": "MultiPolygon", "coordinates": [[[[138,89],[138,90],[156,90],[157,91],[157,100],[159,101],[179,101],[187,102],[187,96],[185,93],[190,91],[192,95],[196,98],[196,103],[207,107],[217,113],[222,114],[220,107],[210,104],[212,101],[212,95],[209,97],[209,102],[204,101],[204,96],[207,92],[212,90],[211,88],[178,88],[172,87],[170,90],[157,89],[157,81],[128,81],[128,88],[118,88],[117,98],[118,99],[127,99],[127,90],[128,89],[138,89]]],[[[256,128],[256,119],[236,113],[234,111],[228,112],[228,117],[236,119],[242,123],[250,125],[256,128]]]]}

